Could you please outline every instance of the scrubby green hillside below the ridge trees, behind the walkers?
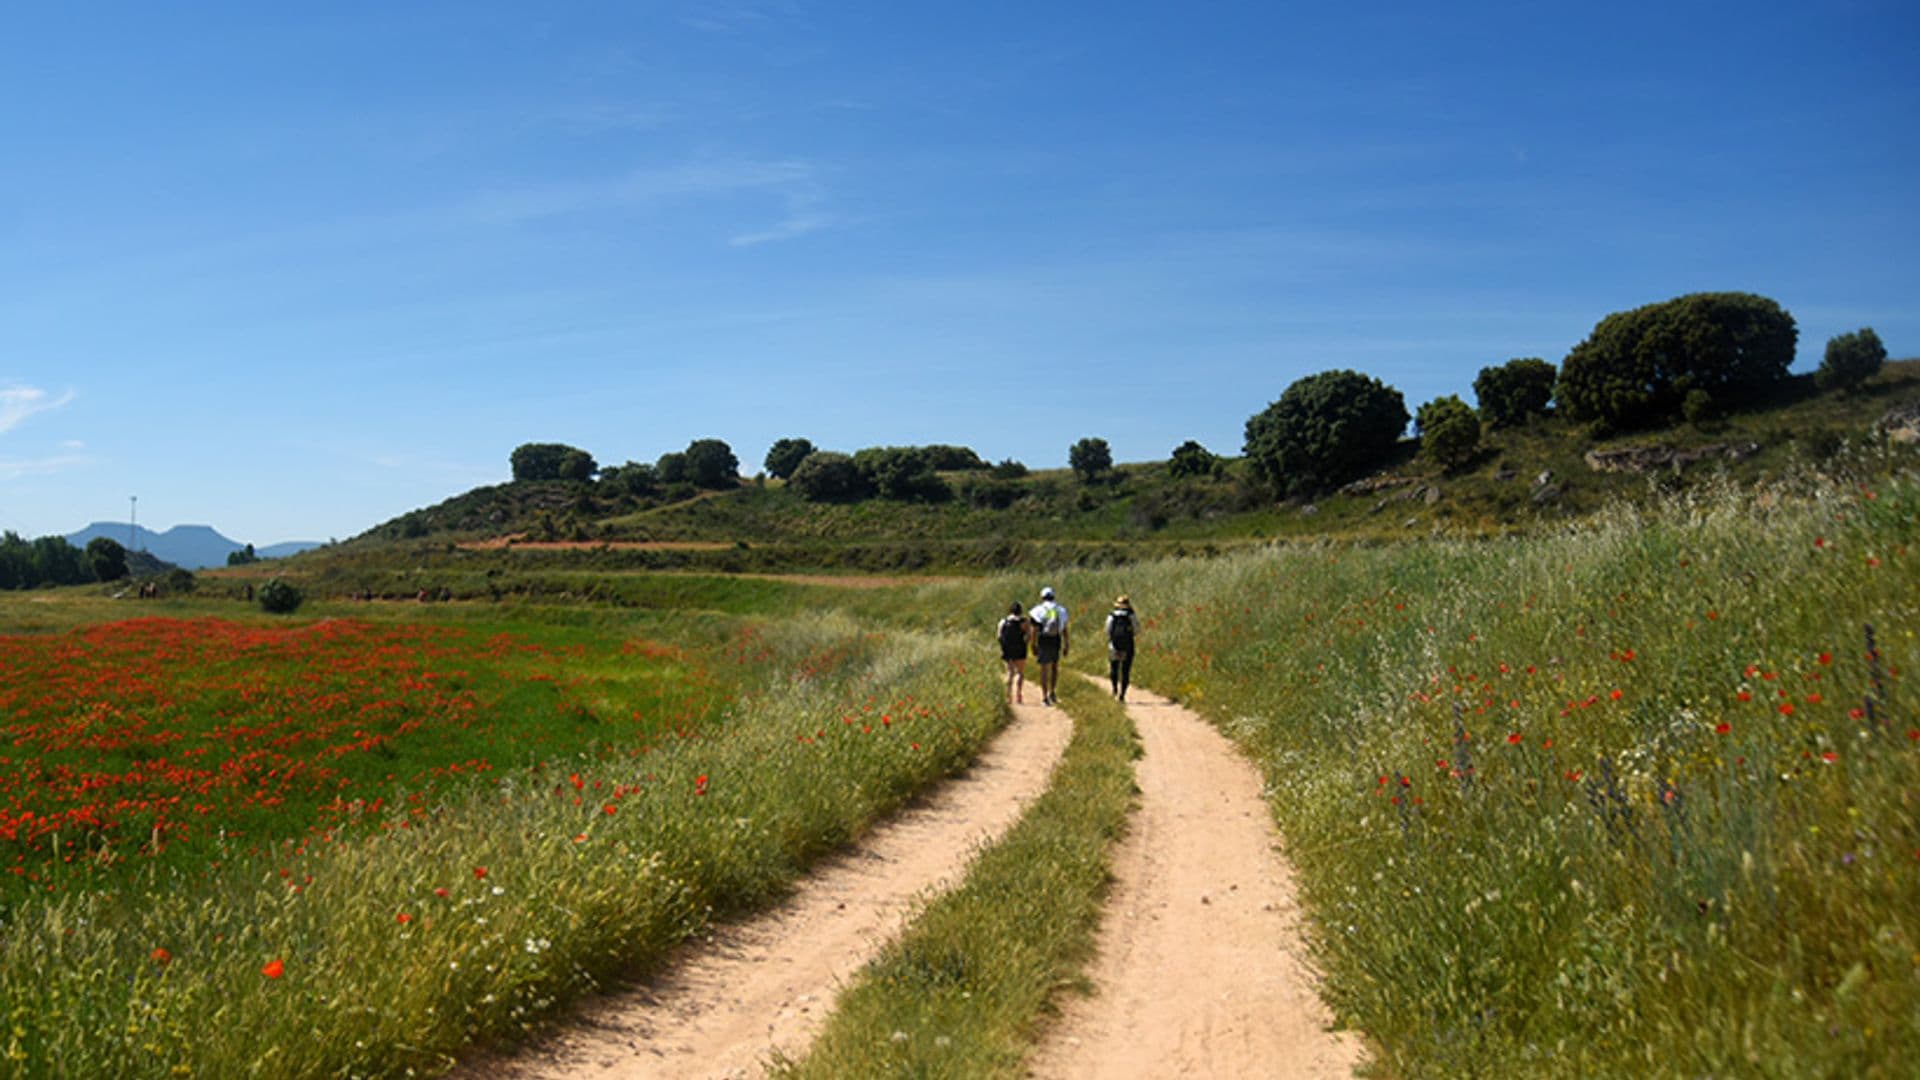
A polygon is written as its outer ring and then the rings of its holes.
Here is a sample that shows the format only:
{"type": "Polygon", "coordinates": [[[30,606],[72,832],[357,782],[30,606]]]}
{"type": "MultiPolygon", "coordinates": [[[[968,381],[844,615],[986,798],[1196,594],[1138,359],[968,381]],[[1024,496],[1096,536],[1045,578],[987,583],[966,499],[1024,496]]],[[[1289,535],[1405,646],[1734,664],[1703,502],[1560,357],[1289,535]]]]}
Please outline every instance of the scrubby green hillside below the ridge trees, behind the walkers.
{"type": "Polygon", "coordinates": [[[1064,469],[1020,479],[943,473],[948,498],[937,502],[814,503],[778,480],[733,492],[682,484],[651,498],[605,482],[509,482],[382,523],[334,557],[371,565],[397,546],[388,553],[438,561],[449,542],[492,538],[509,542],[516,567],[987,569],[1039,561],[1037,548],[1085,563],[1273,538],[1488,536],[1707,480],[1745,484],[1793,469],[1862,467],[1860,455],[1907,452],[1908,444],[1876,425],[1914,405],[1920,359],[1891,361],[1859,394],[1818,394],[1811,377],[1797,377],[1772,405],[1701,425],[1596,438],[1546,417],[1488,430],[1478,454],[1453,473],[1421,457],[1417,440],[1404,440],[1398,457],[1375,475],[1286,502],[1275,502],[1238,459],[1187,479],[1173,477],[1165,461],[1119,465],[1092,484],[1064,469]],[[582,559],[566,546],[593,548],[595,557],[582,559]],[[1087,546],[1094,546],[1091,555],[1087,546]]]}

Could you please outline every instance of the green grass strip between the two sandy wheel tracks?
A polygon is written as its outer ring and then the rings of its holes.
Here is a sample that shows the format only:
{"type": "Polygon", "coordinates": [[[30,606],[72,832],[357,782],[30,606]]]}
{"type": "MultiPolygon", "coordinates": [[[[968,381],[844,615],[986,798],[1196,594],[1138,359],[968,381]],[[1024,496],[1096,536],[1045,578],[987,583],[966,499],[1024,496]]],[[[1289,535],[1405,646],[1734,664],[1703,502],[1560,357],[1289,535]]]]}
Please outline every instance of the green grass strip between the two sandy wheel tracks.
{"type": "Polygon", "coordinates": [[[780,1074],[1020,1074],[1056,994],[1085,984],[1135,796],[1125,709],[1081,680],[1062,692],[1075,730],[1052,788],[841,994],[812,1051],[780,1074]]]}

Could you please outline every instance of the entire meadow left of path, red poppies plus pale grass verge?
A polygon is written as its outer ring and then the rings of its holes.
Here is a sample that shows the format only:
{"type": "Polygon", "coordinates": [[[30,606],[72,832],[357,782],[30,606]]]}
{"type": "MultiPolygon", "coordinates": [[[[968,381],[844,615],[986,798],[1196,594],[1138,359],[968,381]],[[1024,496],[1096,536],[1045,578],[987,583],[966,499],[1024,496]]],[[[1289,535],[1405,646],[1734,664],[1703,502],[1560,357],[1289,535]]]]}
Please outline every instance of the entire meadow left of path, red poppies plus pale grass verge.
{"type": "Polygon", "coordinates": [[[566,623],[0,636],[0,1072],[438,1072],[776,896],[1004,717],[943,638],[566,623]]]}

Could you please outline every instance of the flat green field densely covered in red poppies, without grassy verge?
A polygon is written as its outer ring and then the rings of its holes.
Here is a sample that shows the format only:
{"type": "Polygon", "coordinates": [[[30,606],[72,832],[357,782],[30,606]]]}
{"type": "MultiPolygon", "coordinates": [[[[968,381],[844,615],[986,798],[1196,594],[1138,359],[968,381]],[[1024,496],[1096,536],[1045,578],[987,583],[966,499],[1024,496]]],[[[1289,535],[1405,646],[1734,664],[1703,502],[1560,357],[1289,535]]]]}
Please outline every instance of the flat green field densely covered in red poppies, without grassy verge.
{"type": "Polygon", "coordinates": [[[541,753],[689,736],[720,698],[678,650],[545,638],[355,619],[0,636],[0,903],[407,826],[541,753]]]}

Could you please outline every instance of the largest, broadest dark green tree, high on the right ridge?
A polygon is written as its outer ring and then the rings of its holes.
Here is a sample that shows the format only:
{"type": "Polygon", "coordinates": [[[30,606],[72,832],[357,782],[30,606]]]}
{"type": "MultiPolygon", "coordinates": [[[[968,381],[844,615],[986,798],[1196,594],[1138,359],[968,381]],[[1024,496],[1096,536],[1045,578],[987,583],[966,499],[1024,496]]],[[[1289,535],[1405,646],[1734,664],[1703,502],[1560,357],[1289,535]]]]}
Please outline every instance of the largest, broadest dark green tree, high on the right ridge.
{"type": "Polygon", "coordinates": [[[1793,315],[1751,292],[1693,292],[1615,311],[1561,363],[1553,396],[1576,421],[1649,427],[1693,411],[1734,409],[1788,375],[1793,315]]]}

